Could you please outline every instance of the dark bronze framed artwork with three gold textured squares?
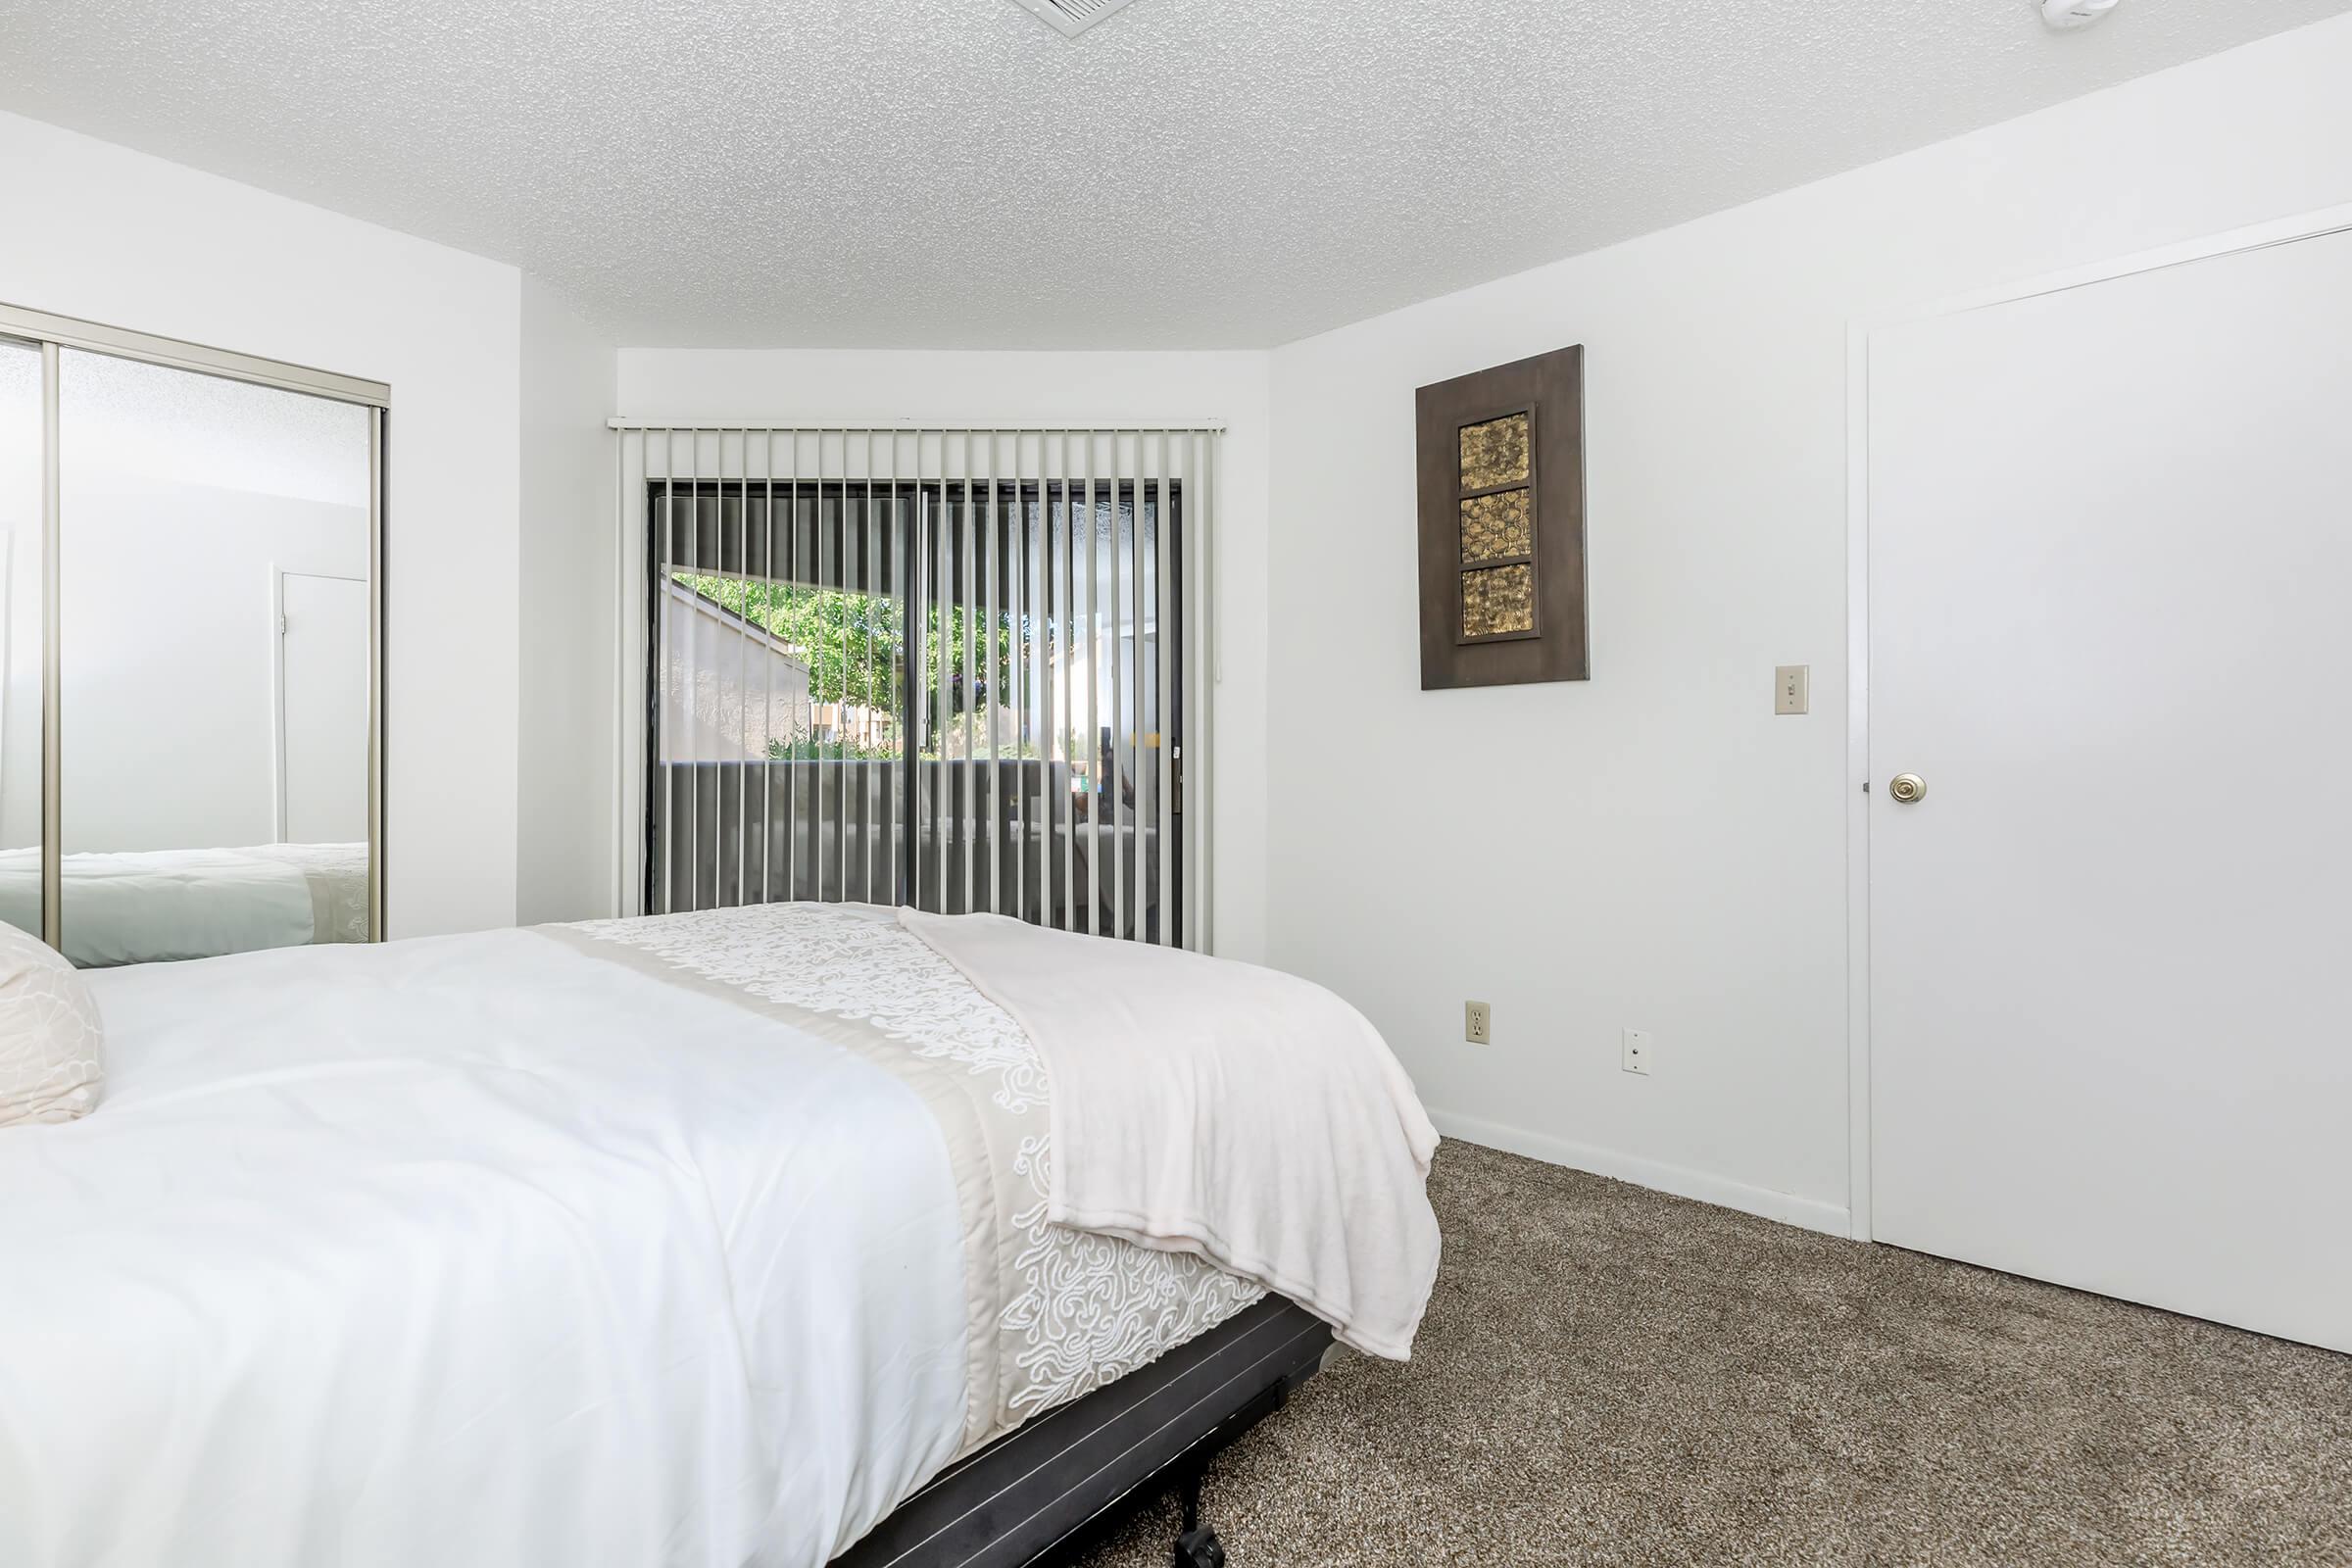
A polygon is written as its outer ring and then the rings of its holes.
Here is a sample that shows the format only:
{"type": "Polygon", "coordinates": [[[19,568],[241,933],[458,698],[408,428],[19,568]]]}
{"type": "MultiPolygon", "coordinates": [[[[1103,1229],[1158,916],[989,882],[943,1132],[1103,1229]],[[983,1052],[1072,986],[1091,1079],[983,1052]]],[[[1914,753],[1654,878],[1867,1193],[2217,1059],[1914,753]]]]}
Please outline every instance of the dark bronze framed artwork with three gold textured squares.
{"type": "Polygon", "coordinates": [[[1585,350],[1416,393],[1421,689],[1588,679],[1585,350]]]}

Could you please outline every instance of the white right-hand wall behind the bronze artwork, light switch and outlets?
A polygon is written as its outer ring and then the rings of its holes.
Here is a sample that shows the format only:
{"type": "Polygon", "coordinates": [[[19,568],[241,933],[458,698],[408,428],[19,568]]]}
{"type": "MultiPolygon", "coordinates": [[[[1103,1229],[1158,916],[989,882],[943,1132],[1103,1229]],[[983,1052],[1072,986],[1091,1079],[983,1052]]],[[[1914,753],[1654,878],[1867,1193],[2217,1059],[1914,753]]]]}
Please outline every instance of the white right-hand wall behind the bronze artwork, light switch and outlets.
{"type": "Polygon", "coordinates": [[[1277,350],[1272,961],[1449,1131],[1842,1227],[1846,324],[2347,202],[2345,82],[2352,16],[1277,350]],[[1423,693],[1414,388],[1564,343],[1592,679],[1423,693]]]}

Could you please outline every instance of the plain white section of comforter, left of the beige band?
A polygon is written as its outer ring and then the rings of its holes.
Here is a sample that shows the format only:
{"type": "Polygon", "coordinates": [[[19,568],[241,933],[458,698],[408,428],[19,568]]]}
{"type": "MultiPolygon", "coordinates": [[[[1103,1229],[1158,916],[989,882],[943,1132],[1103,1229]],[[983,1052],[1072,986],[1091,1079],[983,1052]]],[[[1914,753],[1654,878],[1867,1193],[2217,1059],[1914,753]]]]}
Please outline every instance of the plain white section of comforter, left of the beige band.
{"type": "Polygon", "coordinates": [[[807,1568],[964,1429],[887,1072],[508,931],[92,980],[0,1135],[0,1563],[807,1568]]]}

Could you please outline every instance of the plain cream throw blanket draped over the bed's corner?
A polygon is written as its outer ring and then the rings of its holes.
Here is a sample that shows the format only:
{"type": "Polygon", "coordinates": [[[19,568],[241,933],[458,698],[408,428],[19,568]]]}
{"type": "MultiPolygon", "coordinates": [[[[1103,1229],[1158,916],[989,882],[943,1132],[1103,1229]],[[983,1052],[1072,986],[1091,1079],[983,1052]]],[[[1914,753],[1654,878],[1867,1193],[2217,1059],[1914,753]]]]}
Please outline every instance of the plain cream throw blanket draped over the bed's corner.
{"type": "Polygon", "coordinates": [[[1437,1276],[1437,1128],[1381,1034],[1296,976],[898,910],[1035,1041],[1054,1086],[1047,1215],[1200,1253],[1404,1361],[1437,1276]]]}

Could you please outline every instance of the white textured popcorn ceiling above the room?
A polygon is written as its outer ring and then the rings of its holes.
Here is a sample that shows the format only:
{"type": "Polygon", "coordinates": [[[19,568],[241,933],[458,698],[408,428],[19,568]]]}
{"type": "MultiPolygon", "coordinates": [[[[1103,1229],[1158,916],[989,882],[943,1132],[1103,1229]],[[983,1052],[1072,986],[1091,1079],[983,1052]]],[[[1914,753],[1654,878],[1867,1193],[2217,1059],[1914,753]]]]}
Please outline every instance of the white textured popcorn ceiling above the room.
{"type": "Polygon", "coordinates": [[[2347,7],[1141,0],[1073,42],[1007,0],[0,0],[0,106],[630,343],[1265,346],[2347,7]]]}

